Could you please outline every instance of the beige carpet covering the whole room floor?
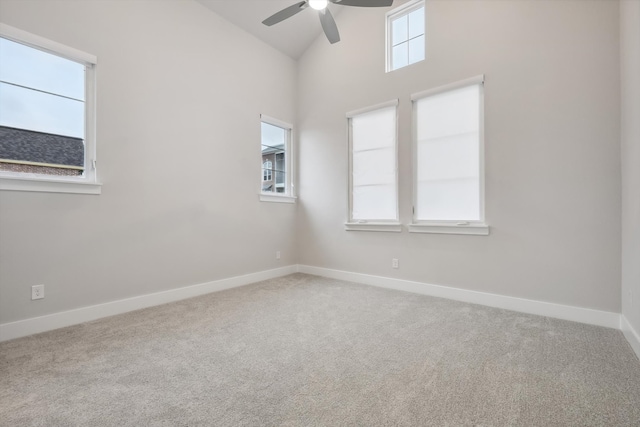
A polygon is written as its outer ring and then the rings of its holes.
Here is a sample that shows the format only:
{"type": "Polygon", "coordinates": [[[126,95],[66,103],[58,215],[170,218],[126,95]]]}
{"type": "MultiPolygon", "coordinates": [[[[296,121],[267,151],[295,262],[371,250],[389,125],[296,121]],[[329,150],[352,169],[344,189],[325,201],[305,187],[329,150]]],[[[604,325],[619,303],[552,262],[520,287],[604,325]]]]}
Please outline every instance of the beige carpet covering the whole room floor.
{"type": "Polygon", "coordinates": [[[2,426],[640,426],[619,331],[294,274],[0,344],[2,426]]]}

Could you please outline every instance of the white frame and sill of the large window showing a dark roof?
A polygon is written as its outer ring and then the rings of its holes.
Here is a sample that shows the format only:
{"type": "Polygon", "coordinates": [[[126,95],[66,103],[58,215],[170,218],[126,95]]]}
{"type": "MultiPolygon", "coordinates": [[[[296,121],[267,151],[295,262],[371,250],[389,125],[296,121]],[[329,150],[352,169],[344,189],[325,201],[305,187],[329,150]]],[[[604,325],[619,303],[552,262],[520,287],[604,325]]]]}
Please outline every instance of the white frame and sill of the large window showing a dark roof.
{"type": "Polygon", "coordinates": [[[85,72],[84,176],[51,176],[35,173],[0,171],[0,190],[39,191],[51,193],[100,194],[96,170],[96,64],[91,54],[0,23],[0,36],[47,53],[78,62],[85,72]]]}

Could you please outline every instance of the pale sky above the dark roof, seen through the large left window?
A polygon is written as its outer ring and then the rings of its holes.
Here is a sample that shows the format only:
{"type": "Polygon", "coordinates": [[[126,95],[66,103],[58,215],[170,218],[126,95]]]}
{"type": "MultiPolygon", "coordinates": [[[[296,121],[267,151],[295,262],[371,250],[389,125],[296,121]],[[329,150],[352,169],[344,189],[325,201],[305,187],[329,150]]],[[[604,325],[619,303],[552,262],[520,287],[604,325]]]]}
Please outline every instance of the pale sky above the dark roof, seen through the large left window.
{"type": "Polygon", "coordinates": [[[84,139],[85,66],[0,37],[0,126],[84,139]]]}

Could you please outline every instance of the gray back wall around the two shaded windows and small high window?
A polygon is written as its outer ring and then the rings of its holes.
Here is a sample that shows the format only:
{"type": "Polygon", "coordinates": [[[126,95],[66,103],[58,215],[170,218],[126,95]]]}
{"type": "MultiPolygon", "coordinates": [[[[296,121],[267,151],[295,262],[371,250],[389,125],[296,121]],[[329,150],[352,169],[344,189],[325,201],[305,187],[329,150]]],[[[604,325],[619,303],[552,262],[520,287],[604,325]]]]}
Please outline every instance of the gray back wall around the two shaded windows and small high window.
{"type": "Polygon", "coordinates": [[[620,312],[618,2],[430,0],[427,60],[388,74],[384,14],[345,8],[300,60],[299,262],[620,312]],[[409,95],[478,74],[491,235],[345,231],[345,112],[400,99],[406,224],[409,95]]]}

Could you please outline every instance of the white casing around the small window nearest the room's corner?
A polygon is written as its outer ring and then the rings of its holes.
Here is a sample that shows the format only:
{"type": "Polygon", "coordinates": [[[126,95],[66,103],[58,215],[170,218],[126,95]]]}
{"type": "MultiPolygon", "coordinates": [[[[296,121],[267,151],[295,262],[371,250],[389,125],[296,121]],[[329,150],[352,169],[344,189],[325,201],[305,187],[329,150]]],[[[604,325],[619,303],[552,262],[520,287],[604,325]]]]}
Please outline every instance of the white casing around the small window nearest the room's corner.
{"type": "MultiPolygon", "coordinates": [[[[295,203],[296,202],[296,196],[294,194],[294,182],[293,182],[293,176],[294,176],[294,163],[293,163],[293,143],[292,143],[292,138],[293,138],[293,126],[287,122],[284,122],[282,120],[278,120],[275,119],[273,117],[269,117],[265,114],[261,114],[260,115],[260,123],[262,124],[266,124],[266,125],[270,125],[270,126],[274,126],[276,128],[279,128],[280,130],[282,130],[284,132],[284,136],[283,136],[283,145],[284,145],[284,162],[280,162],[280,165],[284,164],[284,172],[279,171],[279,170],[272,170],[270,171],[269,174],[267,174],[268,176],[265,175],[265,171],[264,171],[264,165],[268,162],[271,164],[271,167],[273,168],[273,166],[275,165],[275,167],[278,167],[278,159],[277,159],[277,155],[274,156],[273,161],[271,160],[267,160],[267,161],[261,161],[261,185],[264,184],[265,181],[269,181],[272,182],[272,186],[273,188],[282,188],[283,192],[278,193],[278,192],[271,192],[271,191],[264,191],[263,187],[260,188],[260,201],[261,202],[274,202],[274,203],[295,203]],[[284,179],[282,179],[282,176],[284,175],[284,179]],[[265,177],[268,177],[268,180],[265,180],[265,177]],[[280,182],[282,180],[282,182],[280,182]]],[[[268,127],[268,126],[267,126],[268,127]]],[[[261,134],[261,147],[264,147],[264,135],[261,134]]]]}

